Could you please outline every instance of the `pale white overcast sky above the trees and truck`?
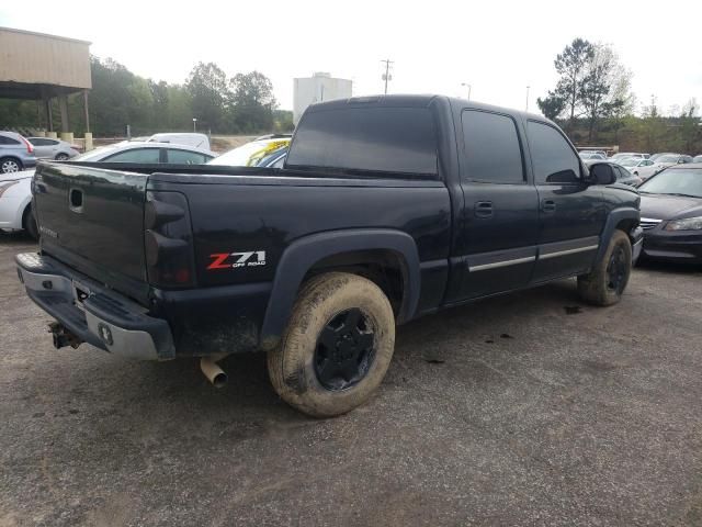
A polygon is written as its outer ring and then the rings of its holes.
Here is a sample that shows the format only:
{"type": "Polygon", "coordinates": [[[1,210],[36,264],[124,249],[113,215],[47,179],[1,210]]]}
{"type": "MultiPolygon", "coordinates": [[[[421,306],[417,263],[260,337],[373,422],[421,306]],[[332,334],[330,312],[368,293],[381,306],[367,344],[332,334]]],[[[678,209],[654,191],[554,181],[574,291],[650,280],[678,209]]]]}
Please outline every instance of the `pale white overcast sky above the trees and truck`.
{"type": "Polygon", "coordinates": [[[639,106],[702,103],[702,1],[431,2],[122,0],[8,1],[0,26],[82,38],[152,79],[183,82],[199,60],[228,76],[258,69],[292,109],[293,78],[314,71],[380,93],[381,59],[395,60],[390,93],[467,94],[530,110],[554,87],[553,60],[574,37],[611,44],[632,70],[639,106]],[[182,5],[182,8],[181,8],[182,5]],[[686,25],[689,22],[689,25],[686,25]]]}

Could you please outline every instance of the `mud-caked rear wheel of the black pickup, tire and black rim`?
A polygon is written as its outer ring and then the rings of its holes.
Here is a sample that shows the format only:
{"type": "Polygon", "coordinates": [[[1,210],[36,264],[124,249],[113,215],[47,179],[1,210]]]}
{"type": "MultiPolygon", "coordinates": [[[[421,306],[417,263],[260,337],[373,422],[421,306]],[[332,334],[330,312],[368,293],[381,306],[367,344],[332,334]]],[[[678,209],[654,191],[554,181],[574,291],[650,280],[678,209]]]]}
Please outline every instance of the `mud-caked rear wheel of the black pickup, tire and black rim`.
{"type": "Polygon", "coordinates": [[[268,354],[273,388],[314,417],[346,414],[383,381],[395,349],[395,316],[372,281],[346,272],[310,279],[281,344],[268,354]]]}

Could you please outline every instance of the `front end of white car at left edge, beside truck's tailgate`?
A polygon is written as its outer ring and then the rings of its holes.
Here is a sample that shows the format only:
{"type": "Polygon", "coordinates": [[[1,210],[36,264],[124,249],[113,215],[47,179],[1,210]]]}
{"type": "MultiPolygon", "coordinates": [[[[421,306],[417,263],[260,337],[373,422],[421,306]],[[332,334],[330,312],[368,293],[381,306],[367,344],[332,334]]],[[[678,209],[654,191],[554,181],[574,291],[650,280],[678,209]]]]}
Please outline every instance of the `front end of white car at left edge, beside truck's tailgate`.
{"type": "Polygon", "coordinates": [[[0,229],[25,229],[38,238],[36,221],[32,215],[32,177],[34,169],[0,173],[0,229]]]}

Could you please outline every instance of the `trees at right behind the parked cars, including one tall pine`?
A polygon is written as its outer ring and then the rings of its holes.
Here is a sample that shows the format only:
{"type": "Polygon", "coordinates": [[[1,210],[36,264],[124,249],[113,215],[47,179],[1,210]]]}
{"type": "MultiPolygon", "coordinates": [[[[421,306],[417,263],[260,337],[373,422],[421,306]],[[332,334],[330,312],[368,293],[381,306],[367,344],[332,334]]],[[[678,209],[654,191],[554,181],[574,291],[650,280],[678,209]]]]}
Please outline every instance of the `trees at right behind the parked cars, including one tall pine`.
{"type": "Polygon", "coordinates": [[[555,60],[558,80],[536,100],[539,109],[556,121],[576,144],[619,145],[624,150],[702,153],[699,106],[690,99],[661,115],[652,101],[636,116],[632,71],[621,64],[612,46],[575,38],[555,60]]]}

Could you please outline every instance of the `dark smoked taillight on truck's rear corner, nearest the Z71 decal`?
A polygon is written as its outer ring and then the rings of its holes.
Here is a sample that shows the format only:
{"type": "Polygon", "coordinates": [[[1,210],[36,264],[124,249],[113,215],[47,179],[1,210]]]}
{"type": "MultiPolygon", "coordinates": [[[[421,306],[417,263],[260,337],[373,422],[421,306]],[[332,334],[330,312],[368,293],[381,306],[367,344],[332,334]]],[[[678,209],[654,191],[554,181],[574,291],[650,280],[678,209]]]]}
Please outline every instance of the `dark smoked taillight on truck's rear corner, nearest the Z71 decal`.
{"type": "Polygon", "coordinates": [[[185,288],[195,283],[188,200],[180,192],[147,192],[144,249],[149,283],[185,288]]]}

